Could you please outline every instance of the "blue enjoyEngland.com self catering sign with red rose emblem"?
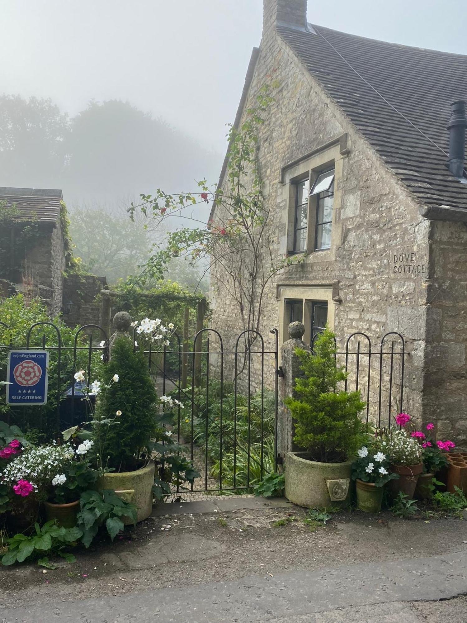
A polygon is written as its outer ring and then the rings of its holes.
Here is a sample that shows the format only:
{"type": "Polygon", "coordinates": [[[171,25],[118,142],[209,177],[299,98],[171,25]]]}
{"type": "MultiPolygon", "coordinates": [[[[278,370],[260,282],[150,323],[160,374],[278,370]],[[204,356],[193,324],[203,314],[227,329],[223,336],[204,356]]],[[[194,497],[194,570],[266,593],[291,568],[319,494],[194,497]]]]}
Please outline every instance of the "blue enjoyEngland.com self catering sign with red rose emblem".
{"type": "Polygon", "coordinates": [[[9,351],[6,403],[46,404],[48,366],[49,353],[47,351],[9,351]]]}

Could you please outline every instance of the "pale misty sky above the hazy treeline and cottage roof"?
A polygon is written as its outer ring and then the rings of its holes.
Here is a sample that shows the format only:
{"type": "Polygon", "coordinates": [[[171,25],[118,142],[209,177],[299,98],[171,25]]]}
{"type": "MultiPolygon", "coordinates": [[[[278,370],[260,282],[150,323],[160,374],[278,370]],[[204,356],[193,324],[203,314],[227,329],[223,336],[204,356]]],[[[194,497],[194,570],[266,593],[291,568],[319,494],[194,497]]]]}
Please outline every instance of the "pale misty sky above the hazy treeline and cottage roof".
{"type": "MultiPolygon", "coordinates": [[[[0,0],[0,93],[120,98],[225,152],[263,0],[0,0]]],[[[463,0],[309,0],[308,21],[467,54],[463,0]]],[[[220,163],[219,163],[220,168],[220,163]]]]}

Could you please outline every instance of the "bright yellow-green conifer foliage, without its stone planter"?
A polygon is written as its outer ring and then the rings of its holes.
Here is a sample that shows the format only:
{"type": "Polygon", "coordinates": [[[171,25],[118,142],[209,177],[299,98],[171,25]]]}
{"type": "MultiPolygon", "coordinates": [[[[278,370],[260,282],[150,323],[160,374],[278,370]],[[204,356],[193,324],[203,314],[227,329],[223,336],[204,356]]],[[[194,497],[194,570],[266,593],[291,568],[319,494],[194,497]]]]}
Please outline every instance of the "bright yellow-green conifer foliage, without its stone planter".
{"type": "Polygon", "coordinates": [[[338,391],[346,379],[343,366],[336,364],[334,333],[328,328],[314,343],[314,353],[298,348],[303,378],[295,379],[296,397],[285,404],[295,419],[295,443],[314,460],[341,462],[354,454],[362,439],[359,413],[365,403],[359,391],[338,391]]]}

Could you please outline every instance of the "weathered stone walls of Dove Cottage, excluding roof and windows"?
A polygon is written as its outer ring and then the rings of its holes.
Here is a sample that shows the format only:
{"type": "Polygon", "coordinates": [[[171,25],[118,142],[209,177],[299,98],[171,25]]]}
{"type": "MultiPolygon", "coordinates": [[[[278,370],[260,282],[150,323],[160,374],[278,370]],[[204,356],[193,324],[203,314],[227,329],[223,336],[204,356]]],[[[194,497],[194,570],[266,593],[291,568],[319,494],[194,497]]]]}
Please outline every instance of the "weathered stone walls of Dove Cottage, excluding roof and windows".
{"type": "MultiPolygon", "coordinates": [[[[263,40],[243,110],[254,105],[263,85],[272,80],[278,83],[258,141],[276,259],[290,248],[290,179],[328,158],[334,161],[336,190],[331,249],[309,252],[303,264],[283,269],[267,288],[261,326],[265,347],[273,347],[271,326],[280,328],[281,341],[286,339],[281,286],[321,287],[331,292],[338,283],[338,300],[328,295],[338,346],[342,348],[354,331],[367,333],[374,344],[389,331],[401,333],[408,351],[404,410],[417,421],[438,422],[440,433],[465,444],[467,227],[420,216],[417,199],[278,36],[272,4],[265,0],[263,40]],[[344,135],[347,148],[341,150],[339,138],[344,135]],[[319,161],[319,150],[333,141],[334,146],[319,161]],[[313,151],[318,155],[288,168],[313,151]]],[[[303,4],[294,6],[301,11],[303,4]]],[[[220,212],[214,216],[222,220],[220,212]]],[[[243,327],[237,304],[222,279],[212,280],[211,304],[212,325],[225,336],[227,350],[243,327]]],[[[258,378],[259,365],[254,372],[258,378]]],[[[272,386],[272,367],[265,373],[272,386]]],[[[372,374],[378,373],[379,361],[374,358],[372,374]]],[[[386,364],[383,373],[389,374],[386,364]]],[[[399,370],[393,380],[395,409],[399,370]]],[[[376,399],[372,392],[372,406],[376,399]]]]}

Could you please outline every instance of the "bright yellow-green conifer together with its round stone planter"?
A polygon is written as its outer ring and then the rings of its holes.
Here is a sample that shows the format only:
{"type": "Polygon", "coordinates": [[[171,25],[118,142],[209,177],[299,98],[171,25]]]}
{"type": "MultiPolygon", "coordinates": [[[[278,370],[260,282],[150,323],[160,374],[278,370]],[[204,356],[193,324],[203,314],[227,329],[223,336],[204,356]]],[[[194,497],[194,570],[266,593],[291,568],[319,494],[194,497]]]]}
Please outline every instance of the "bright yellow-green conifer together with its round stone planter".
{"type": "Polygon", "coordinates": [[[360,392],[339,391],[346,379],[336,364],[336,341],[329,328],[316,338],[314,353],[296,349],[303,378],[285,404],[295,421],[294,442],[303,452],[286,455],[285,495],[293,503],[326,508],[349,496],[352,457],[362,442],[360,392]]]}

